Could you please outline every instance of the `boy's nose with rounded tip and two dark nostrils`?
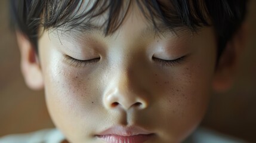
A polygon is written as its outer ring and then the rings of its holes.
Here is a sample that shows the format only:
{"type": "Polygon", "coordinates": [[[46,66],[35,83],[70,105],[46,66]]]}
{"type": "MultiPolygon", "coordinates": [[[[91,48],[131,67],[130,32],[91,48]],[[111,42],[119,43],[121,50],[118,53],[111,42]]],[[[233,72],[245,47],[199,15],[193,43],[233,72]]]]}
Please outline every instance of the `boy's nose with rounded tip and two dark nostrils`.
{"type": "Polygon", "coordinates": [[[104,92],[105,108],[108,110],[115,108],[143,110],[149,106],[148,93],[140,85],[141,82],[137,82],[140,79],[136,78],[133,73],[127,70],[113,76],[104,92]]]}

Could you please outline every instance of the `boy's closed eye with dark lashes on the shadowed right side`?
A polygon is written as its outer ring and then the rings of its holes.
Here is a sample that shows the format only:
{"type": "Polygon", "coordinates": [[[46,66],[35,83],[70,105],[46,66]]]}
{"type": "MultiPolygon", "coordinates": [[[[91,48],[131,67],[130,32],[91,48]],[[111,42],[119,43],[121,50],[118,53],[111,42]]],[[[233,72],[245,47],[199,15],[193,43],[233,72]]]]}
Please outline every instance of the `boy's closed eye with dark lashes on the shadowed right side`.
{"type": "Polygon", "coordinates": [[[184,58],[186,58],[186,56],[177,58],[175,60],[164,60],[161,58],[152,57],[152,60],[161,64],[161,66],[166,67],[166,66],[178,66],[184,61],[184,58]]]}

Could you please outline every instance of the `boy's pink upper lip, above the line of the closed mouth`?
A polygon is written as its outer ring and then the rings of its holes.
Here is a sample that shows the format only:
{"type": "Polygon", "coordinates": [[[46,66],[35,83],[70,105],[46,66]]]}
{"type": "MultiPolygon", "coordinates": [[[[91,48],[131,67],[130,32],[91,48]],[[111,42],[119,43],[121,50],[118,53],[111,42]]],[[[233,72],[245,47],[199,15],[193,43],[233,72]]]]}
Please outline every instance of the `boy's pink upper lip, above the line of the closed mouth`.
{"type": "Polygon", "coordinates": [[[97,136],[117,135],[117,136],[135,136],[135,135],[150,135],[152,132],[140,128],[138,126],[113,126],[100,132],[97,136]]]}

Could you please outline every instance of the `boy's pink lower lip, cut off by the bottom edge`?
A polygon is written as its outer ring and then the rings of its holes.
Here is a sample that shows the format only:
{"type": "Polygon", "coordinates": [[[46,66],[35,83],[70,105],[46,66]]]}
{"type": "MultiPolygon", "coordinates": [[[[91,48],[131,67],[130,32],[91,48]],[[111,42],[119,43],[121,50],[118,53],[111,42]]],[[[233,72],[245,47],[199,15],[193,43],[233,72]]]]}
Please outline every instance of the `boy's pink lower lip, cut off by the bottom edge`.
{"type": "Polygon", "coordinates": [[[151,138],[149,135],[119,136],[119,135],[98,135],[97,137],[107,143],[142,143],[151,138]]]}

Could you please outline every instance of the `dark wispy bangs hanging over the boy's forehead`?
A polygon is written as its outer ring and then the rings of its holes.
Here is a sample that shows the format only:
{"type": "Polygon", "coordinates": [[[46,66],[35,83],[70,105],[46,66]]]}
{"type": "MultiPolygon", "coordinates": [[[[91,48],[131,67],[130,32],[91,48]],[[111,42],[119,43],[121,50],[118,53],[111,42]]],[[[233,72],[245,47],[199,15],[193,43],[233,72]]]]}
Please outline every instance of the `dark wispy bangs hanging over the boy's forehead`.
{"type": "Polygon", "coordinates": [[[131,5],[140,8],[146,20],[158,30],[158,24],[170,30],[186,27],[195,32],[199,27],[208,26],[208,12],[203,1],[157,1],[157,0],[62,0],[45,1],[42,27],[45,29],[58,28],[73,29],[82,27],[90,29],[95,27],[92,21],[104,15],[100,27],[104,34],[115,32],[126,17],[131,5]]]}

